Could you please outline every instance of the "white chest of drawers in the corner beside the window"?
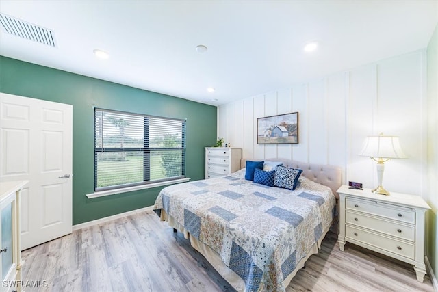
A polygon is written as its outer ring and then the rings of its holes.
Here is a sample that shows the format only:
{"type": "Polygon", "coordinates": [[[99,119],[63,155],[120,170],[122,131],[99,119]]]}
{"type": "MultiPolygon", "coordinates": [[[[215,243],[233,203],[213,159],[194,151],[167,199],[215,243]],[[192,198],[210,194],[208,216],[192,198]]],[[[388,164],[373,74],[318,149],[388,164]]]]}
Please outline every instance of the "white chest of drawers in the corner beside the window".
{"type": "Polygon", "coordinates": [[[205,178],[214,178],[240,170],[242,148],[206,147],[205,178]]]}

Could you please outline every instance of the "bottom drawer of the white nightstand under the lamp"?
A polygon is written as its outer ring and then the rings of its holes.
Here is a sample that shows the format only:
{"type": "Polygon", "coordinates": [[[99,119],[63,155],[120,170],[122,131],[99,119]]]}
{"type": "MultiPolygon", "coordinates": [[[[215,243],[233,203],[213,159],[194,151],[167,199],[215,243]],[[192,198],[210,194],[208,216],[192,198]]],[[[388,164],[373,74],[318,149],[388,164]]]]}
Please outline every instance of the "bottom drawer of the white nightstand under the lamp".
{"type": "Polygon", "coordinates": [[[346,226],[346,238],[407,258],[415,258],[415,244],[388,238],[354,226],[346,226]]]}

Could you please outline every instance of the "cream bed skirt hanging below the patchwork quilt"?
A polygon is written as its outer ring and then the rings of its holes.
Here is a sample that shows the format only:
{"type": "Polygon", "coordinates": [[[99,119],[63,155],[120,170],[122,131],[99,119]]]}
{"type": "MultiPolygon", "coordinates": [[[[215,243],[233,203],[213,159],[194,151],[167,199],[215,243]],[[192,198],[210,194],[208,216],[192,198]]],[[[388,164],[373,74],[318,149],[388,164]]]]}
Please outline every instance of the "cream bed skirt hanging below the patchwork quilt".
{"type": "MultiPolygon", "coordinates": [[[[231,270],[227,265],[224,264],[220,255],[209,248],[208,245],[205,245],[201,241],[198,241],[195,237],[190,235],[188,230],[184,228],[181,224],[177,222],[172,216],[168,215],[164,209],[161,209],[160,220],[168,222],[169,226],[177,229],[179,232],[183,233],[185,239],[189,239],[190,245],[197,250],[200,254],[202,254],[207,261],[211,264],[216,271],[224,278],[229,284],[236,289],[237,291],[245,291],[245,282],[239,275],[237,275],[233,270],[231,270]]],[[[283,281],[284,287],[289,286],[289,283],[292,281],[292,278],[296,275],[296,273],[304,267],[305,262],[309,257],[313,254],[318,254],[318,250],[321,248],[322,239],[326,236],[326,233],[329,231],[330,226],[326,228],[322,232],[321,237],[318,241],[310,248],[307,256],[301,259],[296,265],[296,269],[294,269],[283,281]]]]}

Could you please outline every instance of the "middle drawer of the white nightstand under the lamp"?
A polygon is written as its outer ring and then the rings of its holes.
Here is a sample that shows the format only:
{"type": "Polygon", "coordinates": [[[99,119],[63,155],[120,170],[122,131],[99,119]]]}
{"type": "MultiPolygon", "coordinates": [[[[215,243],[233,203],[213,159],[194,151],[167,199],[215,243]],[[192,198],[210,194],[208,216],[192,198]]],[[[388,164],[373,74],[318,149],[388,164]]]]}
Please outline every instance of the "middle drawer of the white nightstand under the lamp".
{"type": "Polygon", "coordinates": [[[352,211],[346,211],[345,220],[347,224],[369,228],[401,239],[415,241],[415,226],[413,225],[389,222],[383,218],[367,216],[352,211]]]}

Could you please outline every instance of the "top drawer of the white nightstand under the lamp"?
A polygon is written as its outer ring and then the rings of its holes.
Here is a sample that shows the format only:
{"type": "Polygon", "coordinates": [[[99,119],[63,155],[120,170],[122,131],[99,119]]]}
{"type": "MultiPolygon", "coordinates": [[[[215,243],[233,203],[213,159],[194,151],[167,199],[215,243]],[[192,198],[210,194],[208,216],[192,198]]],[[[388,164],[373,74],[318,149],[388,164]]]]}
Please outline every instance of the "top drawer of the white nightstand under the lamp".
{"type": "Polygon", "coordinates": [[[346,198],[346,209],[378,215],[392,220],[415,224],[415,211],[405,207],[394,206],[381,202],[346,198]]]}

